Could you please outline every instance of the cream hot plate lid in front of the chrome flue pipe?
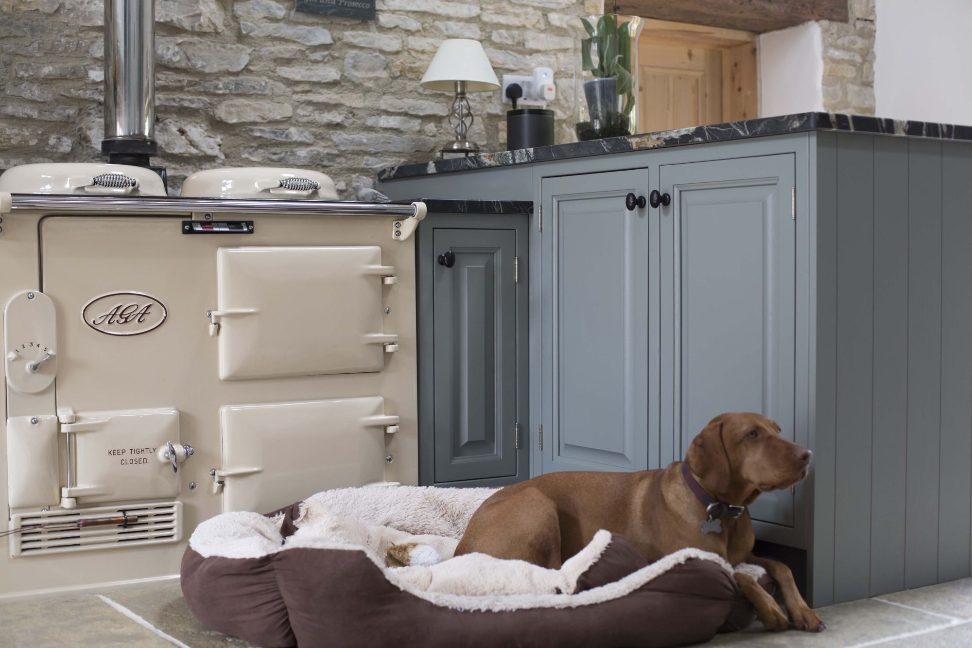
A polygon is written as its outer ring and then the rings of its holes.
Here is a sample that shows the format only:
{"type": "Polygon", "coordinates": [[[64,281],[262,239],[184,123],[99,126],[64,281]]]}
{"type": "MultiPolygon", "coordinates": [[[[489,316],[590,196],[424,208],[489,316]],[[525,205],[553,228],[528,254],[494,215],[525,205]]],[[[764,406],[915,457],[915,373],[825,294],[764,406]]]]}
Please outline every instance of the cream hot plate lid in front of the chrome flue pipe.
{"type": "Polygon", "coordinates": [[[155,171],[127,164],[22,164],[0,175],[0,192],[75,196],[165,196],[155,171]]]}

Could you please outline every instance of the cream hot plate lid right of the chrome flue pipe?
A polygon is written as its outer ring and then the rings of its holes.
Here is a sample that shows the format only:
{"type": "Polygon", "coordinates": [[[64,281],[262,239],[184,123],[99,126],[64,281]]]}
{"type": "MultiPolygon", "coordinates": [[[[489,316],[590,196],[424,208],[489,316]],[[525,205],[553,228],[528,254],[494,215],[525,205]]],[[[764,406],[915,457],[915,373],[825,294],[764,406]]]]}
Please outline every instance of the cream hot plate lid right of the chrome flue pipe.
{"type": "Polygon", "coordinates": [[[213,168],[186,178],[183,197],[336,200],[334,182],[320,171],[270,166],[213,168]]]}

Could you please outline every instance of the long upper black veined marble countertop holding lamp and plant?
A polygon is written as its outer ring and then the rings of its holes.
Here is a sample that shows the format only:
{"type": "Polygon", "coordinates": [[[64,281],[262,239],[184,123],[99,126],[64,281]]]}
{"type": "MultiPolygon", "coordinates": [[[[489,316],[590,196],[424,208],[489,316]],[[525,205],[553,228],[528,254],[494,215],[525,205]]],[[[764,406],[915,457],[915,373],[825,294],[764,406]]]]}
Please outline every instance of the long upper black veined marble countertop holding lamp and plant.
{"type": "Polygon", "coordinates": [[[608,139],[592,139],[587,142],[540,146],[535,149],[485,153],[478,156],[470,156],[469,158],[451,158],[448,160],[434,160],[432,162],[386,166],[378,171],[378,178],[381,180],[394,180],[395,178],[411,178],[433,173],[469,171],[477,168],[508,166],[510,164],[529,164],[531,162],[548,162],[551,160],[569,160],[571,158],[601,156],[610,153],[625,153],[642,149],[660,149],[668,146],[701,144],[704,142],[722,142],[732,139],[761,137],[764,135],[806,132],[808,130],[848,130],[881,133],[885,135],[972,141],[972,126],[907,122],[904,120],[843,115],[838,113],[800,113],[798,115],[781,115],[780,117],[763,117],[755,120],[746,120],[745,122],[677,128],[676,130],[661,130],[659,132],[628,135],[626,137],[609,137],[608,139]]]}

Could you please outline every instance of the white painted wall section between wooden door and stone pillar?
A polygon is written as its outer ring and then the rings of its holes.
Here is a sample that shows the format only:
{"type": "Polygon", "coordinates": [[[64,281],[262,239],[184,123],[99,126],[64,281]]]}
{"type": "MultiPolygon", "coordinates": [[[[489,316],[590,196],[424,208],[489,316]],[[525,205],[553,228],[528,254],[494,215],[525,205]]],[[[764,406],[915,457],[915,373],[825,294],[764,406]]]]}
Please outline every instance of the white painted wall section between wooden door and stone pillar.
{"type": "Polygon", "coordinates": [[[759,116],[823,110],[820,25],[807,22],[759,36],[759,116]]]}

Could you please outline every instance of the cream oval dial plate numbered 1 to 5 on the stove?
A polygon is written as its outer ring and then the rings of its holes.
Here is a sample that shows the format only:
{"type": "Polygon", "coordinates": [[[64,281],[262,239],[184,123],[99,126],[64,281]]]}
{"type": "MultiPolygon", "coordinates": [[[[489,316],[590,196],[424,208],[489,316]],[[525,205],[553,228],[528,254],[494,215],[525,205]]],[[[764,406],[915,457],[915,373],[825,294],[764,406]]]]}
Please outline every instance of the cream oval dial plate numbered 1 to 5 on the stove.
{"type": "Polygon", "coordinates": [[[44,293],[25,290],[4,309],[7,384],[22,394],[44,391],[57,374],[54,305],[44,293]]]}

